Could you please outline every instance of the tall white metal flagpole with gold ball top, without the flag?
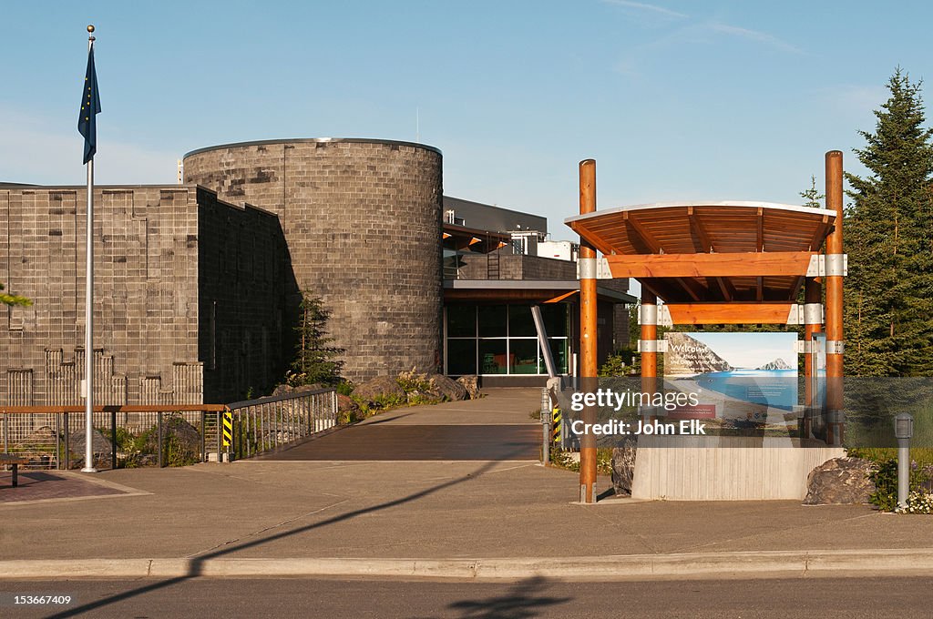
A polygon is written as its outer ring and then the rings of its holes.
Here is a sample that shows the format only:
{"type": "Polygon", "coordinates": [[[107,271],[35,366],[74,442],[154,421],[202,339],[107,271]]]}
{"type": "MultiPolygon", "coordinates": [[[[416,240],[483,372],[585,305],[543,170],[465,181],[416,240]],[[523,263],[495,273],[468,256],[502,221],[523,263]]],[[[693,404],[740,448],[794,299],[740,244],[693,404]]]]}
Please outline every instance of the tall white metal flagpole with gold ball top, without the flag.
{"type": "MultiPolygon", "coordinates": [[[[94,26],[88,26],[88,54],[94,48],[94,26]]],[[[91,112],[92,113],[92,112],[91,112]]],[[[85,236],[84,294],[84,468],[82,473],[97,473],[93,454],[94,411],[94,158],[88,159],[88,221],[85,236]]]]}

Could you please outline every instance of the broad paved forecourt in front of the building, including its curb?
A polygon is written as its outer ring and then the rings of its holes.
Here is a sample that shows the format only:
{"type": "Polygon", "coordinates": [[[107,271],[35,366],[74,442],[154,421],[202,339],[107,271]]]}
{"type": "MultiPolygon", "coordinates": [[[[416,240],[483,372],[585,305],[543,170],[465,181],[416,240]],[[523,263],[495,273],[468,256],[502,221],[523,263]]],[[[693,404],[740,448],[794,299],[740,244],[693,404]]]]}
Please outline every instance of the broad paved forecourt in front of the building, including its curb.
{"type": "MultiPolygon", "coordinates": [[[[528,410],[511,422],[534,422],[528,410]]],[[[419,409],[394,414],[403,413],[411,423],[419,409]]],[[[530,461],[240,461],[66,475],[132,492],[0,503],[0,577],[933,569],[930,517],[799,502],[579,505],[578,475],[530,461]]]]}

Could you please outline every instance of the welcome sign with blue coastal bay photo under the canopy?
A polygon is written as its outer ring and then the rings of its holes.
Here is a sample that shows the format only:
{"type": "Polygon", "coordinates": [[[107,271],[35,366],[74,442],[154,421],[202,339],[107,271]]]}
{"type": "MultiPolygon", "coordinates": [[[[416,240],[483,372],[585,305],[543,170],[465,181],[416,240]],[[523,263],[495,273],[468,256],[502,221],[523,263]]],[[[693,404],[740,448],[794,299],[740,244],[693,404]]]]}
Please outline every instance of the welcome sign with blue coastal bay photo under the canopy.
{"type": "MultiPolygon", "coordinates": [[[[698,392],[702,410],[764,422],[797,405],[797,334],[668,333],[665,384],[698,392]]],[[[682,415],[690,416],[691,411],[682,415]]]]}

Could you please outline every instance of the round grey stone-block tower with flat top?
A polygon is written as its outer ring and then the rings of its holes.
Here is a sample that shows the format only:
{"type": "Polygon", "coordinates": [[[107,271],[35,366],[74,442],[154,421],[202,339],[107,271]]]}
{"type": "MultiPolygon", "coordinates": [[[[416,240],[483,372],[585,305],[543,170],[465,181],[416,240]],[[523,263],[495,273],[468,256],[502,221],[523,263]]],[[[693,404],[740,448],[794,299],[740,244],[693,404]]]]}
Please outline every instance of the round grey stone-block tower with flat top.
{"type": "Polygon", "coordinates": [[[323,298],[327,332],[345,350],[346,378],[435,371],[438,149],[327,138],[223,144],[188,153],[185,181],[279,215],[292,270],[285,276],[295,280],[286,289],[323,298]]]}

